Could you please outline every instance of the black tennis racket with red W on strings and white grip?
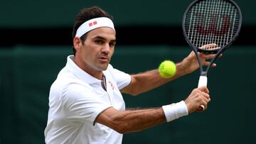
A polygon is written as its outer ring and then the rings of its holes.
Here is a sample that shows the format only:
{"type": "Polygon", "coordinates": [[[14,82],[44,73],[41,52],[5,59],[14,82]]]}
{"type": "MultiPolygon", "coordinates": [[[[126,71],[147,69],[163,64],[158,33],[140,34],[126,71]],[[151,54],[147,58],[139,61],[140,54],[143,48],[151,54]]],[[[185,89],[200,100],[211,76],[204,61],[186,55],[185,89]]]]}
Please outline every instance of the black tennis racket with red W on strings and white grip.
{"type": "MultiPolygon", "coordinates": [[[[230,46],[240,32],[242,13],[232,0],[196,0],[183,15],[183,35],[193,48],[200,67],[198,87],[207,86],[207,74],[216,58],[230,46]],[[215,43],[217,47],[202,47],[215,43]],[[203,66],[198,52],[215,54],[208,66],[203,66]]],[[[205,108],[201,105],[198,111],[205,108]]]]}

